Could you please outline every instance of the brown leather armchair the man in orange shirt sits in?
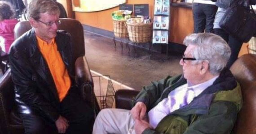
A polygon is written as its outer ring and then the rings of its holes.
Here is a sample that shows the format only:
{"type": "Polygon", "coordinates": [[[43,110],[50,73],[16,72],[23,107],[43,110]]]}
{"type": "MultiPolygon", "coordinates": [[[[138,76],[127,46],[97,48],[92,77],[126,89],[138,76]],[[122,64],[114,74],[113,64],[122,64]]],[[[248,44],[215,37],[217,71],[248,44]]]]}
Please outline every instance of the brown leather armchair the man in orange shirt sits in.
{"type": "MultiPolygon", "coordinates": [[[[59,29],[69,32],[73,38],[73,57],[75,59],[75,73],[77,83],[83,88],[81,96],[95,109],[95,117],[99,106],[93,92],[93,78],[84,56],[84,29],[79,21],[74,19],[60,19],[59,29]]],[[[18,38],[31,29],[28,21],[19,22],[14,29],[14,37],[18,38]]],[[[92,124],[93,125],[93,124],[92,124]]],[[[14,84],[11,79],[10,69],[0,80],[0,128],[4,134],[23,134],[22,120],[17,114],[14,102],[14,84]]]]}

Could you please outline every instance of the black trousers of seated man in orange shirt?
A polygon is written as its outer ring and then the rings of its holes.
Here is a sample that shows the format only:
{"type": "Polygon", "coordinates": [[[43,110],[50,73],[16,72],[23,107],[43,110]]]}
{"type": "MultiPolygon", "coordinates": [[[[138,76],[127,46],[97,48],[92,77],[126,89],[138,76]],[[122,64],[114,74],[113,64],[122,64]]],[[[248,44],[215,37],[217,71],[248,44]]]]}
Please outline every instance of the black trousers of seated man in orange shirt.
{"type": "MultiPolygon", "coordinates": [[[[60,103],[60,115],[69,121],[66,134],[91,134],[94,114],[74,89],[70,89],[60,103]]],[[[50,122],[40,115],[21,114],[26,134],[57,134],[55,122],[50,122]]]]}

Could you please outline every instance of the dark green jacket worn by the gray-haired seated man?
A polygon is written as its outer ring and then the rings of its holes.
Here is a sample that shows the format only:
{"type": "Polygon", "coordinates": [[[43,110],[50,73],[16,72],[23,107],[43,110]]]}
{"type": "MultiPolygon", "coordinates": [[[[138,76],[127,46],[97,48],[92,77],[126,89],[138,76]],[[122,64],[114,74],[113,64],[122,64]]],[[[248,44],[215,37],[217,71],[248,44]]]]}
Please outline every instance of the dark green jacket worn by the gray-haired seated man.
{"type": "MultiPolygon", "coordinates": [[[[135,103],[144,102],[147,112],[166,98],[172,90],[185,84],[182,75],[152,82],[143,87],[135,103]]],[[[240,85],[230,70],[225,69],[212,86],[195,97],[189,105],[164,117],[155,130],[143,134],[229,134],[242,107],[240,85]]]]}

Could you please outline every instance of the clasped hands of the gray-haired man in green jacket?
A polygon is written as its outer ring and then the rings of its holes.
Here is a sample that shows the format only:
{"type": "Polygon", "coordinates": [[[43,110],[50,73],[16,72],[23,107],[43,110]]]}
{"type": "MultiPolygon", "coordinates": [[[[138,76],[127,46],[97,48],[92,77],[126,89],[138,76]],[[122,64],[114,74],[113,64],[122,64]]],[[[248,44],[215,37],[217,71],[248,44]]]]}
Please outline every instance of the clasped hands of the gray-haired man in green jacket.
{"type": "Polygon", "coordinates": [[[152,128],[146,118],[146,109],[143,102],[137,102],[131,110],[132,118],[135,121],[134,130],[136,134],[141,134],[147,128],[152,128]]]}

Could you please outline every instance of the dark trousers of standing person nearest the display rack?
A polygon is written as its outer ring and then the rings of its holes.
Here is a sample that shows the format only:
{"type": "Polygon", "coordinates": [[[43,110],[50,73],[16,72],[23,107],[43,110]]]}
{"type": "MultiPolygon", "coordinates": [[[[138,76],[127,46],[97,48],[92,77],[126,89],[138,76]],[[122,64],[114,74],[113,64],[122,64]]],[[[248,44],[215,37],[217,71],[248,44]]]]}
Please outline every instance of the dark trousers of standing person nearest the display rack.
{"type": "Polygon", "coordinates": [[[214,33],[213,22],[218,7],[213,4],[193,3],[194,33],[214,33]]]}

